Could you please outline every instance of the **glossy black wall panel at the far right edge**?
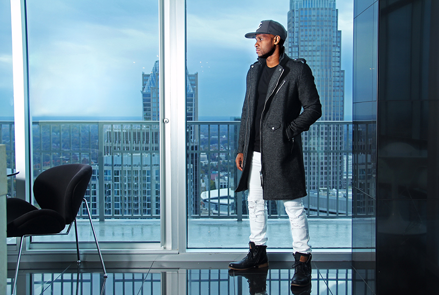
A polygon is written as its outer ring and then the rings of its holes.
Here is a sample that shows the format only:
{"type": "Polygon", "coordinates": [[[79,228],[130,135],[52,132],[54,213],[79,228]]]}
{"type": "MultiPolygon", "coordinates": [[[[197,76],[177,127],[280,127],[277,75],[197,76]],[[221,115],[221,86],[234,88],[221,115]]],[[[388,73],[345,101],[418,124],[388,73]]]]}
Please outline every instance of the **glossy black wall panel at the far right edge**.
{"type": "Polygon", "coordinates": [[[377,294],[439,290],[436,0],[379,0],[377,294]]]}

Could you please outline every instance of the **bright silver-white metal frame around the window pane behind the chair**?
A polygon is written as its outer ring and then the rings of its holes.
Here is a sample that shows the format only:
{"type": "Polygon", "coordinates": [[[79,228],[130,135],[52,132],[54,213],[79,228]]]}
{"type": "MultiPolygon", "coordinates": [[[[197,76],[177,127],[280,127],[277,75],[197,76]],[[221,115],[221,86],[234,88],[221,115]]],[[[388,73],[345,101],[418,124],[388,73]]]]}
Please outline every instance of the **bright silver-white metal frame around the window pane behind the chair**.
{"type": "MultiPolygon", "coordinates": [[[[10,0],[12,31],[12,62],[15,119],[15,158],[20,173],[16,177],[17,196],[29,200],[32,192],[32,126],[29,111],[26,0],[10,0]]],[[[159,63],[160,63],[160,243],[105,242],[106,254],[185,252],[186,249],[186,3],[185,0],[159,2],[159,63]],[[168,86],[169,85],[169,86],[168,86]],[[172,85],[172,87],[170,86],[172,85]],[[165,120],[167,119],[167,120],[165,120]],[[167,123],[165,123],[167,122],[167,123]]],[[[17,243],[19,239],[17,239],[17,243]]],[[[83,243],[85,253],[93,245],[83,243]]],[[[64,249],[74,253],[74,243],[29,243],[24,241],[22,254],[35,251],[64,249]]],[[[8,250],[17,251],[17,244],[8,250]]],[[[15,252],[16,254],[17,252],[15,252]]],[[[12,254],[12,253],[11,253],[12,254]]],[[[58,255],[57,255],[58,256],[58,255]]],[[[57,260],[65,260],[63,256],[57,260]]]]}

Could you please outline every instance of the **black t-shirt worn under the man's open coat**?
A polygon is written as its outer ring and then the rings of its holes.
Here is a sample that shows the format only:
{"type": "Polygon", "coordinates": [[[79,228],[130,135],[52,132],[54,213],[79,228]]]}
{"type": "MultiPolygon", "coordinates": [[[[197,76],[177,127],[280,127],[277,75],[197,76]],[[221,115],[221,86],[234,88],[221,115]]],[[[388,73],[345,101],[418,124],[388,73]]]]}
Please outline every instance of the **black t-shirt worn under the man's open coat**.
{"type": "Polygon", "coordinates": [[[266,65],[262,68],[262,73],[259,78],[258,92],[256,94],[256,115],[253,124],[253,150],[261,152],[261,117],[262,111],[264,110],[265,99],[267,97],[268,84],[270,83],[271,77],[273,76],[276,67],[269,68],[266,65]]]}

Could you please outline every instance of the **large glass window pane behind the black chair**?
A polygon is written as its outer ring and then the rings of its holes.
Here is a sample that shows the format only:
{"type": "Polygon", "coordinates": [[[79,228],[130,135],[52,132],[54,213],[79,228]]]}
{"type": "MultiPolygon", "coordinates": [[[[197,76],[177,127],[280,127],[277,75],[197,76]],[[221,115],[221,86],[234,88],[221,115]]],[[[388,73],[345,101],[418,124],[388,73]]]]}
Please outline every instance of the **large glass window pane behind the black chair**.
{"type": "MultiPolygon", "coordinates": [[[[33,177],[93,166],[98,239],[159,242],[158,1],[28,0],[27,24],[33,177]]],[[[88,241],[85,209],[79,217],[88,241]]]]}

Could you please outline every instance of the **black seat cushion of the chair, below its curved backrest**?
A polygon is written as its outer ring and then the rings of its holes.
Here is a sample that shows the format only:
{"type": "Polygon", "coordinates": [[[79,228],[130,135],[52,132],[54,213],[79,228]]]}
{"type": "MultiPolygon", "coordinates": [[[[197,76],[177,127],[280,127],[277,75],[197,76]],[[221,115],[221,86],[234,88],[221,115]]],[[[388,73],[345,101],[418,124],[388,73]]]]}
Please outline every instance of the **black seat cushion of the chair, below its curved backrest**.
{"type": "Polygon", "coordinates": [[[21,199],[7,199],[6,208],[7,237],[59,233],[66,227],[64,218],[58,212],[37,209],[21,199]]]}

